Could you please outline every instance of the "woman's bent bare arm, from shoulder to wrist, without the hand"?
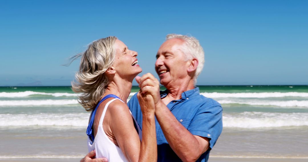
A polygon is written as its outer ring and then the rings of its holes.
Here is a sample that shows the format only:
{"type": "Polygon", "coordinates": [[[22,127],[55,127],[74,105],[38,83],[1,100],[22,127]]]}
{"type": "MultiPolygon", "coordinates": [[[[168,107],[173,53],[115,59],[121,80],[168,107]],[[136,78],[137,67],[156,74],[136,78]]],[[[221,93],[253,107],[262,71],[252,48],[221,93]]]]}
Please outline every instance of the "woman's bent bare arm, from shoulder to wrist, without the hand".
{"type": "Polygon", "coordinates": [[[134,127],[132,115],[126,104],[112,102],[108,110],[111,115],[110,128],[128,161],[157,161],[155,113],[144,115],[142,142],[134,127]]]}

